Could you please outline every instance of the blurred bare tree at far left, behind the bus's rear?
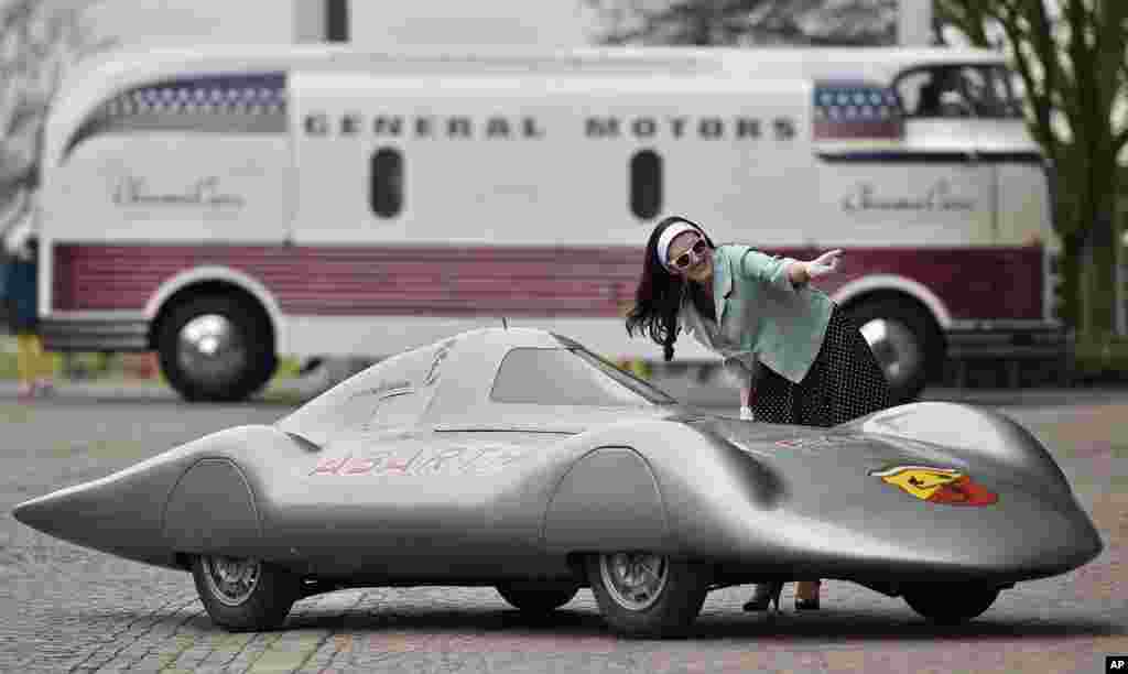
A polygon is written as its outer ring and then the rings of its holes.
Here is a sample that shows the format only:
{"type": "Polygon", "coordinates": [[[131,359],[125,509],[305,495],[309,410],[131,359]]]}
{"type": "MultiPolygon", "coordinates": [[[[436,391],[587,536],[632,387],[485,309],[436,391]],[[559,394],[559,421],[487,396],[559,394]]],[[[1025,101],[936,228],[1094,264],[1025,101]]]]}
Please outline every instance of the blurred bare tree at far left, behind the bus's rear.
{"type": "Polygon", "coordinates": [[[96,41],[82,7],[0,2],[0,210],[35,181],[47,109],[71,65],[112,41],[96,41]]]}

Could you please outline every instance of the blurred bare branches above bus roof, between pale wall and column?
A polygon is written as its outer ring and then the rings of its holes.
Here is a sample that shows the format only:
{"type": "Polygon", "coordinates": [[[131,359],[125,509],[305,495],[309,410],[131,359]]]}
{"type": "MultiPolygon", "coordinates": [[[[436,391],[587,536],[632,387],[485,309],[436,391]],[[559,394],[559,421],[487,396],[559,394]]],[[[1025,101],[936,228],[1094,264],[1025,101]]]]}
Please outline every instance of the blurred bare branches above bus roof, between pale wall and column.
{"type": "Polygon", "coordinates": [[[897,0],[583,0],[605,44],[880,45],[897,38],[897,0]]]}

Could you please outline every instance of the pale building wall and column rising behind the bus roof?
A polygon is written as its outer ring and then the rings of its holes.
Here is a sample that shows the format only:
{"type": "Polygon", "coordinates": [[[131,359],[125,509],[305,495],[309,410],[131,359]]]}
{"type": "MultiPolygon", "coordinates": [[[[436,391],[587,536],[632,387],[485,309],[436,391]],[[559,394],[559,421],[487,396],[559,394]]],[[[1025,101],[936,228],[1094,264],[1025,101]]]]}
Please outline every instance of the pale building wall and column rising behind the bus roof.
{"type": "MultiPolygon", "coordinates": [[[[51,0],[47,0],[51,1],[51,0]]],[[[591,44],[598,12],[581,0],[54,0],[86,5],[99,36],[122,44],[351,42],[399,46],[535,46],[591,44]]],[[[658,2],[664,0],[655,0],[658,2]]],[[[828,0],[830,2],[831,0],[828,0]]],[[[932,41],[932,0],[899,0],[898,42],[932,41]]]]}

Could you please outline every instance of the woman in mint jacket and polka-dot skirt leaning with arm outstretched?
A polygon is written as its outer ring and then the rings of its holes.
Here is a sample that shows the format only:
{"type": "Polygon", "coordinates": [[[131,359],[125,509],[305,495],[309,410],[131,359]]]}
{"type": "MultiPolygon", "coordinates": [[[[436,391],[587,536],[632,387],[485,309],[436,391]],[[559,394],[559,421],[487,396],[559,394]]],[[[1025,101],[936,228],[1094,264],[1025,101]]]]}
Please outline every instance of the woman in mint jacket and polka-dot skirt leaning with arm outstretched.
{"type": "MultiPolygon", "coordinates": [[[[810,261],[748,246],[714,246],[685,218],[651,232],[627,334],[650,336],[667,361],[680,329],[724,357],[740,381],[740,417],[835,426],[889,407],[889,383],[857,327],[810,281],[835,271],[840,250],[810,261]],[[679,321],[680,319],[680,321],[679,321]]],[[[744,604],[779,604],[782,584],[761,584],[744,604]]],[[[795,609],[819,608],[819,582],[802,580],[795,609]]]]}

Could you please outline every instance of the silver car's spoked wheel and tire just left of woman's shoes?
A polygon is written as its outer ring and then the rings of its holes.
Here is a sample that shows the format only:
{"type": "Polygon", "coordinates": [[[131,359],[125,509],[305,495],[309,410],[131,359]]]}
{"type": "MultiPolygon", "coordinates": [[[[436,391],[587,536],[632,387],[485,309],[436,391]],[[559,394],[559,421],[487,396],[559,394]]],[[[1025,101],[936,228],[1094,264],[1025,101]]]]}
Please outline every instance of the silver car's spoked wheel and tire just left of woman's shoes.
{"type": "Polygon", "coordinates": [[[625,637],[684,636],[708,594],[708,575],[690,561],[618,552],[591,555],[587,568],[603,619],[625,637]]]}

